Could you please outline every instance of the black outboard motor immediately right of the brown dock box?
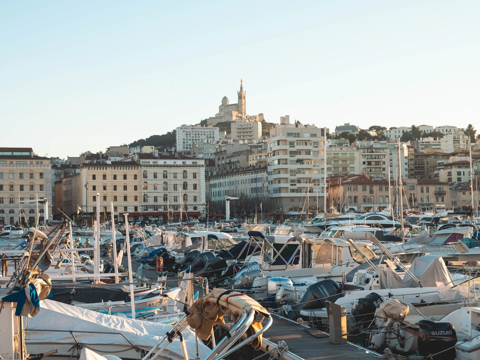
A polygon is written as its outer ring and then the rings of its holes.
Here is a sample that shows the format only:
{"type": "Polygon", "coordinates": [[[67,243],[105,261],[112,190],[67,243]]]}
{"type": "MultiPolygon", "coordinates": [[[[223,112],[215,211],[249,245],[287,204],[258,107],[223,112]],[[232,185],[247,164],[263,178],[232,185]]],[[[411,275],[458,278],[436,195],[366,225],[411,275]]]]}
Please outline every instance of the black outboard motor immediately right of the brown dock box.
{"type": "Polygon", "coordinates": [[[383,302],[383,298],[376,292],[359,298],[357,305],[346,316],[348,333],[357,334],[367,328],[375,317],[375,310],[383,302]]]}

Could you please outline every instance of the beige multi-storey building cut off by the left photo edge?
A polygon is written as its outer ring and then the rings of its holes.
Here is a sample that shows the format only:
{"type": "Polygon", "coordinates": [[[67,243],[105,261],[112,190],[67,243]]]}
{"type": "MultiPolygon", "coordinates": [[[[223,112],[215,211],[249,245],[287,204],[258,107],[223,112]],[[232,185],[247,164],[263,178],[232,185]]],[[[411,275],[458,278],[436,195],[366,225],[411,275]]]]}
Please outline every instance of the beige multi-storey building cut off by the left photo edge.
{"type": "MultiPolygon", "coordinates": [[[[37,198],[41,203],[44,198],[48,200],[51,214],[50,166],[50,159],[38,156],[31,147],[0,147],[0,223],[18,221],[34,225],[38,215],[37,198]]],[[[38,212],[40,222],[48,220],[43,204],[38,206],[38,212]]]]}

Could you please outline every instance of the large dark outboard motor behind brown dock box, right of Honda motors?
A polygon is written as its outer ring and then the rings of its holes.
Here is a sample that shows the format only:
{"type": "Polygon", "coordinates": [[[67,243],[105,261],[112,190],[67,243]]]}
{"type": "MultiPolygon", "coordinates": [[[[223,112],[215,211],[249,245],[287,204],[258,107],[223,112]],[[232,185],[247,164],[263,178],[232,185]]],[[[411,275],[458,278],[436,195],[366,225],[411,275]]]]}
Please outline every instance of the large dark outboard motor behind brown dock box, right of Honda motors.
{"type": "Polygon", "coordinates": [[[331,279],[325,279],[308,286],[299,303],[291,304],[288,317],[296,320],[301,317],[300,310],[319,309],[325,307],[325,301],[334,302],[342,296],[340,285],[331,279]]]}

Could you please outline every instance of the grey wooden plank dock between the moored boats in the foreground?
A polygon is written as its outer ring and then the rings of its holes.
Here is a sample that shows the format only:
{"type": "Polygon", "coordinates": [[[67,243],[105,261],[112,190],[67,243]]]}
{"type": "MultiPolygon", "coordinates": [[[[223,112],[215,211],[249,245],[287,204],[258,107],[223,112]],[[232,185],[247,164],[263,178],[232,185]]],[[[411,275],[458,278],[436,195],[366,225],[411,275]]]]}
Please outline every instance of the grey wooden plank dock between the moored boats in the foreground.
{"type": "Polygon", "coordinates": [[[341,358],[373,360],[375,356],[379,356],[378,353],[358,347],[351,342],[341,345],[332,344],[328,334],[315,327],[300,325],[296,321],[278,315],[272,316],[273,324],[263,336],[264,343],[268,346],[265,349],[268,351],[279,341],[285,341],[288,350],[283,352],[283,360],[338,360],[341,358]]]}

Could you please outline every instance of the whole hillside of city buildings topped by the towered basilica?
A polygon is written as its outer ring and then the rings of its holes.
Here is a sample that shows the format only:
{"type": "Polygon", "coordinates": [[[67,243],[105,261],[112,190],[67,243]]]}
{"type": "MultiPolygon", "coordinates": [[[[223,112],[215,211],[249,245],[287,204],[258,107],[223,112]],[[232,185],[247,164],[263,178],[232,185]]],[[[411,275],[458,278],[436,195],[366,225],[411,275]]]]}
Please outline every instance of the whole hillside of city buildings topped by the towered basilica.
{"type": "Polygon", "coordinates": [[[404,206],[478,206],[480,146],[471,124],[345,123],[330,131],[289,115],[279,123],[248,115],[242,82],[237,96],[237,103],[224,96],[199,124],[104,152],[50,163],[31,148],[0,148],[0,222],[32,224],[36,204],[25,200],[37,194],[47,200],[43,219],[61,212],[90,218],[97,207],[109,215],[110,203],[119,219],[127,212],[130,220],[222,217],[226,196],[238,197],[231,213],[242,218],[373,211],[398,206],[399,179],[404,206]]]}

